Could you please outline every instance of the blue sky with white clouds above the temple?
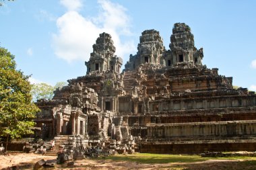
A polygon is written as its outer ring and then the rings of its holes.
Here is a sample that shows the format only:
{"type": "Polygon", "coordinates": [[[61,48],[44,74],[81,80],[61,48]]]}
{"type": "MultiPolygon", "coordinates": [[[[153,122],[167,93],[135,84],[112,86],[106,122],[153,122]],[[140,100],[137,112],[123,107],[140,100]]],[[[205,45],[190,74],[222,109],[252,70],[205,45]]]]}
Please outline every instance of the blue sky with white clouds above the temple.
{"type": "Polygon", "coordinates": [[[203,65],[256,91],[256,1],[15,0],[0,7],[0,46],[15,55],[32,83],[55,85],[86,75],[98,34],[108,32],[123,65],[143,30],[160,32],[169,49],[172,26],[191,27],[203,65]]]}

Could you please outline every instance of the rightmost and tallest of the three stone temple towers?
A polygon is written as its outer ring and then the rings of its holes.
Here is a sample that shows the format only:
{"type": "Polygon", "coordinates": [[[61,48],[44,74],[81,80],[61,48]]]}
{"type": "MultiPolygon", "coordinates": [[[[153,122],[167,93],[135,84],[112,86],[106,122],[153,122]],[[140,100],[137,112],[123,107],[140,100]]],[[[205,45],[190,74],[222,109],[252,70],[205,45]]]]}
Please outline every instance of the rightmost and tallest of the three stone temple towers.
{"type": "Polygon", "coordinates": [[[166,66],[179,63],[201,65],[203,48],[197,50],[194,46],[194,36],[191,29],[184,23],[174,24],[170,36],[170,50],[164,54],[166,66]]]}

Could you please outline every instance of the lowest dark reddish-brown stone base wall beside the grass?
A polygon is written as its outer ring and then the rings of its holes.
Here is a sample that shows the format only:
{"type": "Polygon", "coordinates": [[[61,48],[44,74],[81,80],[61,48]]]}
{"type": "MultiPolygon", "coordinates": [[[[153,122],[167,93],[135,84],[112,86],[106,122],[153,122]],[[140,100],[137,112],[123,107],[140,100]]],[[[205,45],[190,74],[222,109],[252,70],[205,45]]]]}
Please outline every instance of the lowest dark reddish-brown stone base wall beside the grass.
{"type": "Polygon", "coordinates": [[[159,153],[159,154],[192,154],[224,151],[256,151],[256,142],[201,142],[201,143],[141,143],[140,153],[159,153]]]}

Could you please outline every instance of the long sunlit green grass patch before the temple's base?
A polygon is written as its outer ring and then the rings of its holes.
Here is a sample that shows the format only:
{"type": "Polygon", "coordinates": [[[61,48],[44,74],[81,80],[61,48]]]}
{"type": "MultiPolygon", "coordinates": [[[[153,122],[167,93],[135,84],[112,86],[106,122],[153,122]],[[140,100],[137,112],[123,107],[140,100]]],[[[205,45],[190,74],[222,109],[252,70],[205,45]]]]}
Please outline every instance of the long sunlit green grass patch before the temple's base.
{"type": "Polygon", "coordinates": [[[199,155],[163,155],[150,153],[136,153],[133,155],[113,155],[106,157],[113,161],[133,161],[137,163],[193,163],[206,161],[212,158],[205,158],[199,155]]]}

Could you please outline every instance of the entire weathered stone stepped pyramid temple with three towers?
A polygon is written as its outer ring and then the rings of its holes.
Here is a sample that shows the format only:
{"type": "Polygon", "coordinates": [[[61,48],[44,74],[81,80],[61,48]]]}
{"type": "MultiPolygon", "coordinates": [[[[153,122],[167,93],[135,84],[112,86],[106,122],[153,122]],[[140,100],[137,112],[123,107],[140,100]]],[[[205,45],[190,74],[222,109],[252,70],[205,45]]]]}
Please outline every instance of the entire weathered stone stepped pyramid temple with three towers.
{"type": "Polygon", "coordinates": [[[123,72],[110,34],[92,48],[86,75],[38,100],[41,138],[141,153],[256,151],[255,92],[202,65],[186,24],[174,24],[168,50],[158,31],[143,31],[123,72]]]}

